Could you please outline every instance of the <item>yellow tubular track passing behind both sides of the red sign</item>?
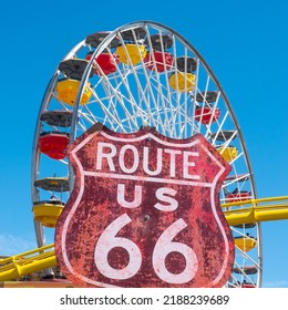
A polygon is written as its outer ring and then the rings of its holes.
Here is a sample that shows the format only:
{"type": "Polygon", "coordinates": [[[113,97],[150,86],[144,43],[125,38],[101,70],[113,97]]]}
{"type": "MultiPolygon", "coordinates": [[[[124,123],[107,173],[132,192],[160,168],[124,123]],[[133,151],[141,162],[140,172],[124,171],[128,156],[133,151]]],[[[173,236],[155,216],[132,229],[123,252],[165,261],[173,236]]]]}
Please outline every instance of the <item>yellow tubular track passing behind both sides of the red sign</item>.
{"type": "MultiPolygon", "coordinates": [[[[222,204],[229,226],[288,219],[288,196],[222,204]],[[267,204],[269,203],[269,204],[267,204]]],[[[54,245],[0,259],[0,281],[56,266],[54,245]]]]}

